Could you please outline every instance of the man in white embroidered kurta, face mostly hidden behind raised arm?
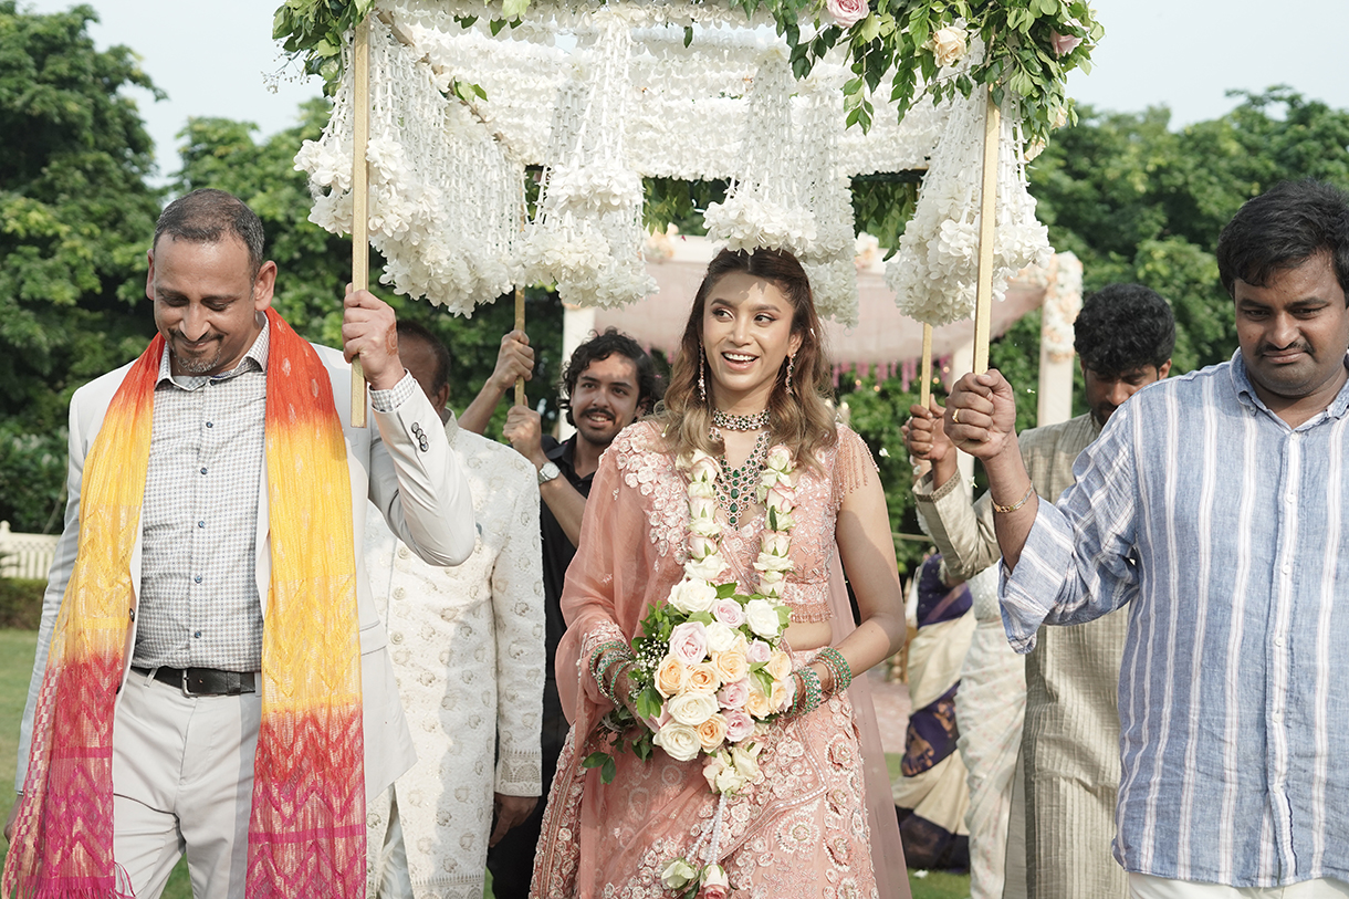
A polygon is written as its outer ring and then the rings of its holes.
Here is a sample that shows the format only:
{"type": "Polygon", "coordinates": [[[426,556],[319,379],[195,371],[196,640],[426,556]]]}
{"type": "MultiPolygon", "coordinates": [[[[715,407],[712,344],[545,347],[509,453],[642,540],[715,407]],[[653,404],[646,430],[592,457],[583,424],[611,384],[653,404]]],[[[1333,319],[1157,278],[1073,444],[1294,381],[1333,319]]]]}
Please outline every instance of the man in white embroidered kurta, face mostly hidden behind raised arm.
{"type": "Polygon", "coordinates": [[[523,456],[444,410],[448,355],[434,337],[401,323],[399,346],[447,420],[478,543],[463,566],[441,568],[382,521],[366,529],[366,566],[417,749],[417,764],[367,809],[367,895],[480,899],[494,807],[505,833],[533,807],[521,798],[542,791],[538,487],[523,456]]]}

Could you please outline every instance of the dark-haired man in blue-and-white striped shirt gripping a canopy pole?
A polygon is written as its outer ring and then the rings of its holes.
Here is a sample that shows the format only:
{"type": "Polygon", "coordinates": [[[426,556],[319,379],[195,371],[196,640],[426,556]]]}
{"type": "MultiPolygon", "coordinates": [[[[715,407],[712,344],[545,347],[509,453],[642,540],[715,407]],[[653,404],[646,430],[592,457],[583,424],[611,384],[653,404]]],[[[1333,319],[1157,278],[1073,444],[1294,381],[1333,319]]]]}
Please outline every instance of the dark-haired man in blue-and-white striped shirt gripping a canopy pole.
{"type": "Polygon", "coordinates": [[[958,382],[946,431],[989,474],[1013,647],[1129,605],[1114,853],[1132,894],[1349,896],[1349,197],[1251,200],[1218,267],[1240,350],[1135,394],[1056,503],[998,373],[958,382]]]}

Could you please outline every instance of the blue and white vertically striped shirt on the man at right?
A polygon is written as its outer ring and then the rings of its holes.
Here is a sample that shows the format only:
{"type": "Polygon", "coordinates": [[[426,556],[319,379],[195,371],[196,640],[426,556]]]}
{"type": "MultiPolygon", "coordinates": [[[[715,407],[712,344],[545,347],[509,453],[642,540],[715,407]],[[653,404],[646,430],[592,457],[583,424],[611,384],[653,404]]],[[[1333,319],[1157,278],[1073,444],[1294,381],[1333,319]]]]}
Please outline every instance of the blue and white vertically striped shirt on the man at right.
{"type": "Polygon", "coordinates": [[[1129,603],[1116,857],[1232,887],[1349,880],[1349,385],[1290,428],[1232,362],[1110,417],[1002,583],[1041,622],[1129,603]],[[1067,574],[1064,574],[1067,572],[1067,574]],[[1338,686],[1333,686],[1338,684],[1338,686]]]}

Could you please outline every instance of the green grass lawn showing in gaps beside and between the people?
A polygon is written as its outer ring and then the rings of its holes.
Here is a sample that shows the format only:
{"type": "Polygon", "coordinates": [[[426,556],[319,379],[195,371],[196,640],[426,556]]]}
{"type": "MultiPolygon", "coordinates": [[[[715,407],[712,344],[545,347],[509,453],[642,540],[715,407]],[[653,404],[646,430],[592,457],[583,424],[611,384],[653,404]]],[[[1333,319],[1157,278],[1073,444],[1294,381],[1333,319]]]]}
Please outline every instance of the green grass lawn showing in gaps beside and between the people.
{"type": "MultiPolygon", "coordinates": [[[[32,674],[32,647],[38,634],[31,630],[0,630],[0,815],[7,819],[13,805],[13,791],[5,784],[13,783],[15,753],[19,746],[19,719],[23,717],[23,703],[28,695],[28,678],[32,674]]],[[[893,771],[898,771],[898,756],[886,756],[893,771]]],[[[927,876],[909,872],[913,899],[966,899],[970,895],[969,876],[948,875],[934,871],[927,876]]],[[[487,899],[491,899],[491,886],[487,899]]],[[[169,877],[163,899],[192,899],[192,884],[188,880],[188,865],[179,861],[169,877]]]]}

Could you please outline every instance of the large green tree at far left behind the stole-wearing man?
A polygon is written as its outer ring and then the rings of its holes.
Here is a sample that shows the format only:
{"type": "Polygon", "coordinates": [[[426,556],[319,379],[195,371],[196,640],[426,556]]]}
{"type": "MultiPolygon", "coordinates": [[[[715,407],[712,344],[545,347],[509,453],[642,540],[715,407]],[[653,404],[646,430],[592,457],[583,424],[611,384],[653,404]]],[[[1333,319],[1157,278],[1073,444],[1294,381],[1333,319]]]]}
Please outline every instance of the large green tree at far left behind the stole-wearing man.
{"type": "Polygon", "coordinates": [[[161,94],[131,50],[94,49],[90,22],[88,5],[0,1],[0,518],[19,530],[59,505],[70,394],[154,332],[140,298],[159,193],[123,88],[161,94]]]}

